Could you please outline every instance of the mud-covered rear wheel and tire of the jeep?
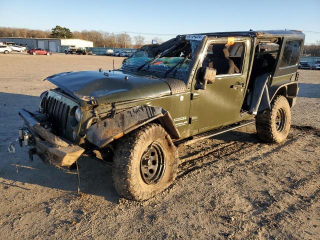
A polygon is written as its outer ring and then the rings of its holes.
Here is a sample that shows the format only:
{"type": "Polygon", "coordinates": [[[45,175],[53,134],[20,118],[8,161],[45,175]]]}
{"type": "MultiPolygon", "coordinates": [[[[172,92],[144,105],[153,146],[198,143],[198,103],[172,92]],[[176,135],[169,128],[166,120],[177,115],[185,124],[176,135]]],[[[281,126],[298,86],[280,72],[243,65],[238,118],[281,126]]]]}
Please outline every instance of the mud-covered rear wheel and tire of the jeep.
{"type": "Polygon", "coordinates": [[[255,117],[257,135],[270,143],[283,142],[290,130],[290,105],[284,96],[275,96],[270,109],[255,117]]]}

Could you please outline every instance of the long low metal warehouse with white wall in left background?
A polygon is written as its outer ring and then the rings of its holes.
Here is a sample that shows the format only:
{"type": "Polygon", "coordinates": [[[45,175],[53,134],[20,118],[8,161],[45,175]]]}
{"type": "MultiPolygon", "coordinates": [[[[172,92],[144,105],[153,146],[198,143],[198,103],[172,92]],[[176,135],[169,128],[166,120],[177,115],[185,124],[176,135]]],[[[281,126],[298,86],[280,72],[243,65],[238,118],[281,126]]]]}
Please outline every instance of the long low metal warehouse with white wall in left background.
{"type": "Polygon", "coordinates": [[[14,42],[17,45],[30,48],[43,48],[52,52],[61,52],[63,46],[75,45],[76,47],[93,47],[92,41],[70,38],[23,38],[23,37],[0,37],[0,42],[14,42]],[[61,47],[62,46],[62,47],[61,47]]]}

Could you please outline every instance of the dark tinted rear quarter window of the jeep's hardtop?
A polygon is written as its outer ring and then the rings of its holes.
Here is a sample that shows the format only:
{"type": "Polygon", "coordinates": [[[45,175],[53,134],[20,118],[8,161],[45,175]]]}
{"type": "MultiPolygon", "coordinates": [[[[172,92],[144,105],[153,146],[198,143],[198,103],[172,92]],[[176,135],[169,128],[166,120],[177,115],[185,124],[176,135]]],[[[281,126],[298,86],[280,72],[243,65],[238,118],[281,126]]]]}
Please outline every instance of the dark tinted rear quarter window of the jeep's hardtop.
{"type": "Polygon", "coordinates": [[[287,40],[280,59],[280,67],[292,66],[297,63],[302,40],[287,40]]]}

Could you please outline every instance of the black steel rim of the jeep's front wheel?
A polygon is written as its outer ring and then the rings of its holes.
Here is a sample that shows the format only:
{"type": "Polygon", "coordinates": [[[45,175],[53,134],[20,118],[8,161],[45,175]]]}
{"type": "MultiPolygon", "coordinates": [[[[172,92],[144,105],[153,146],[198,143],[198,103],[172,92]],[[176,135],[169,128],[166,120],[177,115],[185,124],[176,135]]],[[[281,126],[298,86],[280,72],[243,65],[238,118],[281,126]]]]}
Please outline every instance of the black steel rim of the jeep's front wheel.
{"type": "Polygon", "coordinates": [[[143,152],[140,160],[140,174],[146,184],[161,180],[165,169],[163,149],[158,142],[152,142],[143,152]]]}

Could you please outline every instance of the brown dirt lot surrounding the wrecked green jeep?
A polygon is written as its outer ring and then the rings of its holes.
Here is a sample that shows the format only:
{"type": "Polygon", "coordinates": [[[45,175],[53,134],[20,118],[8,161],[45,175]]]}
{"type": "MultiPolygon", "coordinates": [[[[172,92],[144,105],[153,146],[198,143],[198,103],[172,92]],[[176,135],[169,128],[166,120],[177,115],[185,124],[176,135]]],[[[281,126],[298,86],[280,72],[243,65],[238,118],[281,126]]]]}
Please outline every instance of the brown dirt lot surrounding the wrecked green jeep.
{"type": "Polygon", "coordinates": [[[17,109],[37,108],[53,87],[44,77],[113,59],[119,67],[119,57],[0,54],[1,239],[320,239],[320,71],[299,70],[284,143],[260,142],[250,125],[179,148],[176,181],[147,201],[119,198],[110,166],[89,157],[79,194],[76,171],[29,161],[25,147],[11,157],[17,109]]]}

